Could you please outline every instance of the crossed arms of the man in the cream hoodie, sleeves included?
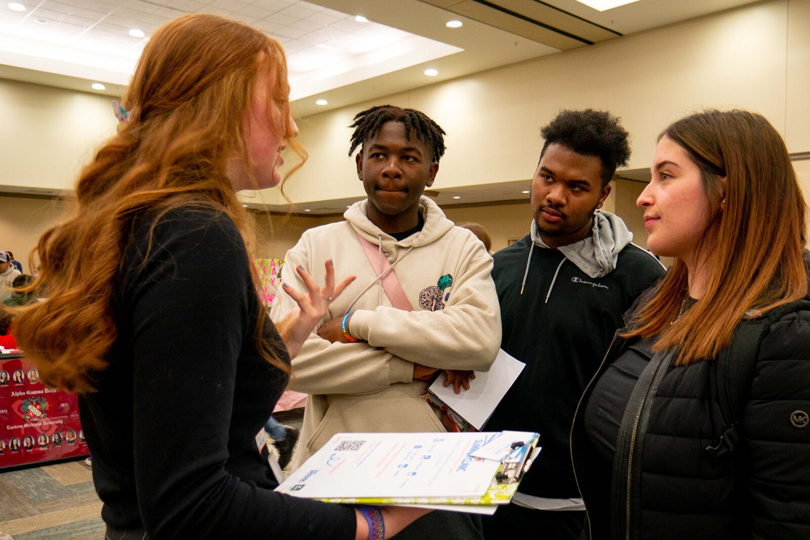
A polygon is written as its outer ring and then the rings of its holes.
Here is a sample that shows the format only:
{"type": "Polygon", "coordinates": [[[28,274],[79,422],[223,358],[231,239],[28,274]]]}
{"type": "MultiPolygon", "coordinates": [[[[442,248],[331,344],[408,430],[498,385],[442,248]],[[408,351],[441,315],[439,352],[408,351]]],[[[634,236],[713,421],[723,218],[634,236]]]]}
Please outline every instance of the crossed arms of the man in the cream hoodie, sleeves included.
{"type": "MultiPolygon", "coordinates": [[[[487,370],[501,342],[497,295],[489,276],[492,260],[484,255],[483,248],[482,253],[472,249],[468,254],[443,311],[405,312],[386,306],[357,310],[347,322],[360,342],[348,342],[343,335],[341,311],[331,313],[334,318],[327,314],[328,320],[293,359],[291,388],[316,394],[369,393],[397,382],[429,380],[440,369],[451,372],[445,385],[454,384],[459,391],[468,387],[467,374],[487,370]]],[[[292,249],[283,281],[303,288],[300,266],[306,267],[308,259],[292,249]]],[[[324,296],[335,299],[326,292],[324,296]]],[[[292,297],[279,296],[274,320],[292,308],[292,297]]]]}

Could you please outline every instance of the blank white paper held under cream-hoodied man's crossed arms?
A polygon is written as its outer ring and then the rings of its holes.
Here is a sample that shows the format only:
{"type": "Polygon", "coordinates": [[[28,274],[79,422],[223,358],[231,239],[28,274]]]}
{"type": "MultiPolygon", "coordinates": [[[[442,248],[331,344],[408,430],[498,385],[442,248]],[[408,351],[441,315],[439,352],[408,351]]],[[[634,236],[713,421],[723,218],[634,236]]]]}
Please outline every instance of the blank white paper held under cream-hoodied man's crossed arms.
{"type": "Polygon", "coordinates": [[[434,381],[429,389],[475,429],[481,429],[525,367],[526,364],[501,349],[488,372],[475,372],[475,379],[470,381],[469,390],[455,393],[453,385],[445,388],[442,386],[444,376],[434,381]]]}

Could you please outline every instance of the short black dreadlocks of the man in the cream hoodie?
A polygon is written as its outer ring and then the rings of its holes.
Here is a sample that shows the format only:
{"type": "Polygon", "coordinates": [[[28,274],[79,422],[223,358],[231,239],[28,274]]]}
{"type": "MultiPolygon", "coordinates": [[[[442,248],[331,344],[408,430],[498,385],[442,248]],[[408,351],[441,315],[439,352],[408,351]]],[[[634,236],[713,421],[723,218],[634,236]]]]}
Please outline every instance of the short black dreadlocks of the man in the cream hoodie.
{"type": "Polygon", "coordinates": [[[411,140],[411,130],[416,131],[416,138],[424,142],[433,151],[433,163],[438,163],[445,154],[445,130],[441,129],[432,118],[415,108],[401,108],[394,105],[377,105],[360,111],[354,117],[355,128],[352,133],[352,155],[357,147],[362,148],[363,143],[373,138],[386,122],[401,122],[405,125],[405,138],[411,140]]]}

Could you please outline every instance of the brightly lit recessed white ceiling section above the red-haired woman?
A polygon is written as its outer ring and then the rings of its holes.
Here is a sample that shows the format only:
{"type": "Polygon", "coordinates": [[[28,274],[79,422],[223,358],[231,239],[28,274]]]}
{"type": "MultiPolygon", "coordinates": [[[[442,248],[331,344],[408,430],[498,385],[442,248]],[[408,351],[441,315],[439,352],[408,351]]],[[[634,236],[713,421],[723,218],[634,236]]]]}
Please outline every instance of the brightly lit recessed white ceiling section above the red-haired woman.
{"type": "MultiPolygon", "coordinates": [[[[41,60],[48,60],[52,69],[58,66],[56,74],[68,77],[86,76],[96,69],[99,74],[94,80],[117,85],[128,82],[148,34],[168,20],[192,12],[216,12],[244,20],[287,45],[290,73],[301,75],[301,79],[291,80],[293,99],[330,89],[322,74],[311,73],[324,66],[340,75],[339,82],[331,86],[335,87],[424,62],[425,57],[462,50],[420,38],[420,51],[415,52],[407,32],[379,23],[358,23],[354,15],[302,0],[42,0],[26,7],[23,13],[11,11],[0,0],[3,62],[36,69],[41,60]],[[130,29],[147,36],[130,36],[130,29]],[[394,54],[399,57],[394,68],[367,55],[375,43],[387,48],[398,40],[403,46],[394,54]],[[409,56],[416,60],[408,63],[409,56]],[[113,80],[109,80],[110,70],[117,73],[113,80]],[[354,78],[347,75],[352,72],[356,72],[354,78]],[[308,87],[307,82],[313,80],[318,85],[308,87]]],[[[386,51],[386,58],[390,57],[386,51]]]]}

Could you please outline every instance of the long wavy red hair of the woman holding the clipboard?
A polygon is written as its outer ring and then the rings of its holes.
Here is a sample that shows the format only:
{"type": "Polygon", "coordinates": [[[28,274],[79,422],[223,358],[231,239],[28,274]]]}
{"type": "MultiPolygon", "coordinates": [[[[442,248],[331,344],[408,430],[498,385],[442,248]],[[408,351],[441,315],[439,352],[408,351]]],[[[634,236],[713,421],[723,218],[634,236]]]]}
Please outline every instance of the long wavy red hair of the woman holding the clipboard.
{"type": "MultiPolygon", "coordinates": [[[[45,384],[92,392],[117,338],[113,279],[136,215],[150,211],[151,227],[169,210],[196,205],[219,210],[237,225],[250,253],[254,225],[228,181],[237,163],[254,181],[243,133],[258,74],[270,75],[271,125],[305,159],[292,138],[287,63],[279,42],[218,15],[186,15],[151,36],[124,105],[130,121],[106,142],[79,176],[77,207],[50,228],[32,251],[40,259],[34,287],[47,300],[25,308],[15,337],[45,384]]],[[[258,276],[253,265],[254,284],[258,276]]],[[[261,303],[260,303],[261,304],[261,303]]],[[[257,347],[289,372],[262,339],[268,320],[257,317],[257,347]]]]}

